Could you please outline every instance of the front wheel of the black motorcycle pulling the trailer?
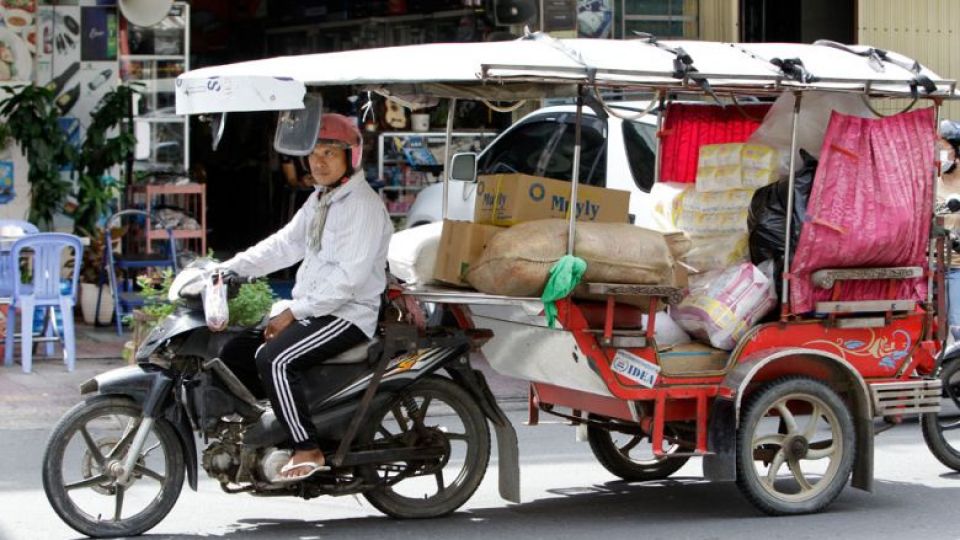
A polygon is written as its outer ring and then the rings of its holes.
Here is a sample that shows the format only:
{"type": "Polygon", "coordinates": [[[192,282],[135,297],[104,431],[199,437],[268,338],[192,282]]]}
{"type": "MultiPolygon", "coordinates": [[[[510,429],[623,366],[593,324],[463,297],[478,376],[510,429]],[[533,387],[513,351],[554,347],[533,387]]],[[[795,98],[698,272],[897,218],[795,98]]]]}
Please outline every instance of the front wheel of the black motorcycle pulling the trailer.
{"type": "Polygon", "coordinates": [[[92,537],[136,536],[156,526],[183,487],[184,460],[173,427],[158,420],[134,472],[118,480],[142,417],[132,401],[94,397],[57,423],[43,456],[43,489],[60,518],[92,537]]]}

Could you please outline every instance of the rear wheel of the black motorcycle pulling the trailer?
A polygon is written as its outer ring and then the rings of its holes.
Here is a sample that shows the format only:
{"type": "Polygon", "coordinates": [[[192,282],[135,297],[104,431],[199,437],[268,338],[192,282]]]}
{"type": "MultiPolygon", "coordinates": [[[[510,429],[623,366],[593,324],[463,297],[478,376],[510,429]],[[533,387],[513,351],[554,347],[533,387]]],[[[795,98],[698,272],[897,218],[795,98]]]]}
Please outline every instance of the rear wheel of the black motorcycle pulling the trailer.
{"type": "Polygon", "coordinates": [[[439,457],[364,467],[377,487],[364,497],[395,518],[431,518],[460,508],[473,495],[490,460],[490,430],[463,388],[429,377],[371,416],[359,437],[364,448],[426,447],[439,457]]]}

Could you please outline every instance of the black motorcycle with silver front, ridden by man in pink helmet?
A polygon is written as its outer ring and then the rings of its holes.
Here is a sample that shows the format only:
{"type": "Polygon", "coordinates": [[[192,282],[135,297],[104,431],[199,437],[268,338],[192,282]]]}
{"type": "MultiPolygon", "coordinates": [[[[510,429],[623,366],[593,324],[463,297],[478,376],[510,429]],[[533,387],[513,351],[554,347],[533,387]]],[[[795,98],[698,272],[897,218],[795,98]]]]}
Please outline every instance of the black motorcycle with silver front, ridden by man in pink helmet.
{"type": "MultiPolygon", "coordinates": [[[[488,419],[501,457],[518,470],[516,434],[470,366],[469,352],[484,332],[384,321],[375,339],[304,375],[331,469],[277,482],[291,455],[287,435],[269,403],[257,400],[220,358],[225,345],[262,326],[208,328],[202,291],[213,272],[210,261],[185,268],[170,288],[175,312],[150,332],[136,365],[84,382],[83,401],[53,429],[43,486],[78,532],[142,534],[170,512],[185,477],[197,489],[199,466],[228,494],[362,494],[392,517],[442,516],[463,505],[484,477],[488,419]],[[194,434],[201,439],[199,460],[194,434]]],[[[224,279],[231,295],[245,281],[224,279]]],[[[385,318],[410,315],[402,297],[385,296],[385,318]]]]}

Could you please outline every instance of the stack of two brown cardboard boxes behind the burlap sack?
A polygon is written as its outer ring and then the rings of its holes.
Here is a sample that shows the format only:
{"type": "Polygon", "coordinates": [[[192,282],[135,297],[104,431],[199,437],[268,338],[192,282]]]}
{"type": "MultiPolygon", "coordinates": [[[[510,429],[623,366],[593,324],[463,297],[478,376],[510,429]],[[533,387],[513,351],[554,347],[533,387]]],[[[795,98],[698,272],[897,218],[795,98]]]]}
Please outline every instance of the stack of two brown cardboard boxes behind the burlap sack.
{"type": "Polygon", "coordinates": [[[565,219],[629,223],[630,192],[581,185],[576,208],[571,206],[570,182],[525,174],[481,176],[473,222],[444,221],[434,279],[469,287],[467,272],[493,236],[517,223],[565,219]]]}

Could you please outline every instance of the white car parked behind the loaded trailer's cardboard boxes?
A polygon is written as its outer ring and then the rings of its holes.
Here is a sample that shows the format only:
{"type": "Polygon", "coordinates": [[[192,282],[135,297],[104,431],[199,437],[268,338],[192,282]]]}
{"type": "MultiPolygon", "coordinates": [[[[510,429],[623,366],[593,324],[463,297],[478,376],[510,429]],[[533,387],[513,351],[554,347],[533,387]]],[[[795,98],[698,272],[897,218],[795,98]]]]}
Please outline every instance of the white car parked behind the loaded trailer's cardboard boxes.
{"type": "MultiPolygon", "coordinates": [[[[647,102],[610,102],[608,108],[632,118],[647,109],[647,102]]],[[[606,114],[606,113],[604,113],[606,114]]],[[[584,107],[581,124],[580,182],[630,192],[630,214],[636,225],[659,228],[653,221],[657,117],[637,120],[606,118],[584,107]]],[[[570,180],[573,163],[576,107],[545,107],[520,119],[477,157],[477,174],[523,173],[570,180]]],[[[451,181],[447,218],[473,220],[476,183],[451,181]]],[[[440,221],[443,217],[443,184],[423,189],[407,214],[407,226],[440,221]]]]}

